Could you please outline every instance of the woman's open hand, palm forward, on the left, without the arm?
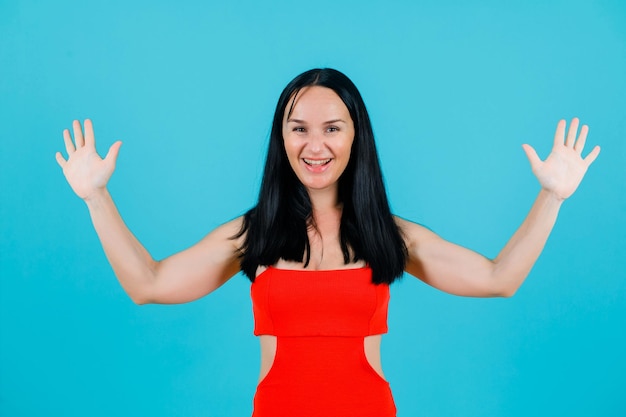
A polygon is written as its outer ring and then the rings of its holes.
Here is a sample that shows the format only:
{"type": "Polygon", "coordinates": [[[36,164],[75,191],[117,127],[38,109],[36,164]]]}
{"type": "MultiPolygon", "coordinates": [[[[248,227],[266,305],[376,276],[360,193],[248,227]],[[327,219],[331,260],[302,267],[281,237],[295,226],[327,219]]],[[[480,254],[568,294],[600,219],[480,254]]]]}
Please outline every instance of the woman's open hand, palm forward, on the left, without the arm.
{"type": "Polygon", "coordinates": [[[63,140],[67,151],[67,160],[61,152],[56,153],[56,160],[63,175],[72,187],[72,190],[83,200],[87,201],[99,191],[106,188],[107,182],[115,170],[117,155],[122,146],[121,141],[115,142],[109,148],[106,157],[102,159],[96,152],[96,139],[93,133],[91,120],[85,120],[85,132],[80,122],[74,120],[74,141],[68,129],[63,131],[63,140]]]}

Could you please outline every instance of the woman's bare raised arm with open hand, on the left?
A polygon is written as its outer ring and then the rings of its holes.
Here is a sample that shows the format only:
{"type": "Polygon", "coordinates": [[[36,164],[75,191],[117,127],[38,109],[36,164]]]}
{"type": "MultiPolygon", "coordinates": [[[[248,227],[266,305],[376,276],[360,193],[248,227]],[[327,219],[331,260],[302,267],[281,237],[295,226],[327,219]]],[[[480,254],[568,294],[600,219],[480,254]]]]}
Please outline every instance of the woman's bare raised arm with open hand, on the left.
{"type": "Polygon", "coordinates": [[[96,233],[120,284],[138,304],[184,303],[218,288],[239,271],[238,245],[233,240],[241,219],[226,223],[194,246],[156,261],[124,224],[106,185],[113,174],[121,142],[102,159],[96,152],[90,120],[74,121],[74,141],[63,131],[66,160],[56,159],[74,192],[89,209],[96,233]]]}

